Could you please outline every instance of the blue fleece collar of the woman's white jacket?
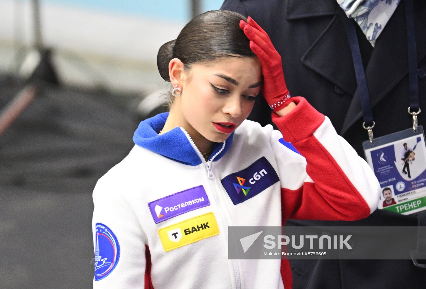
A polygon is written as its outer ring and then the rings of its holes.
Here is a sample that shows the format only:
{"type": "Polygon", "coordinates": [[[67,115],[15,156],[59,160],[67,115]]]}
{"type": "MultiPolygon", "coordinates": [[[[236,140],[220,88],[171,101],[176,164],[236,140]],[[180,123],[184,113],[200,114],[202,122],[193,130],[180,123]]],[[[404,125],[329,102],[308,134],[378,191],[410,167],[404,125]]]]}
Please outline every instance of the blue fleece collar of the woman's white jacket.
{"type": "MultiPolygon", "coordinates": [[[[179,163],[190,166],[199,165],[202,160],[180,127],[175,127],[169,132],[158,135],[164,127],[168,115],[168,112],[164,112],[141,121],[135,134],[133,134],[133,142],[179,163]]],[[[227,138],[225,148],[213,161],[219,160],[225,155],[232,143],[233,135],[234,133],[227,138]]],[[[211,155],[216,155],[222,149],[222,146],[223,143],[214,143],[211,155]]]]}

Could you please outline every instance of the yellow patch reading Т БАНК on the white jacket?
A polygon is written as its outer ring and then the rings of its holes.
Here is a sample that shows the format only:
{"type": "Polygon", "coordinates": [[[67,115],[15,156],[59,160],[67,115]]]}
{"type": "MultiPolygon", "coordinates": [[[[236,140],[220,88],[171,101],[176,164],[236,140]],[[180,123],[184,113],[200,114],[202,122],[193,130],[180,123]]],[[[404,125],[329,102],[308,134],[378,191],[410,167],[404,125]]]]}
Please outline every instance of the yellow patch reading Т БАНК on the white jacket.
{"type": "Polygon", "coordinates": [[[166,252],[218,234],[219,228],[213,212],[158,230],[166,252]]]}

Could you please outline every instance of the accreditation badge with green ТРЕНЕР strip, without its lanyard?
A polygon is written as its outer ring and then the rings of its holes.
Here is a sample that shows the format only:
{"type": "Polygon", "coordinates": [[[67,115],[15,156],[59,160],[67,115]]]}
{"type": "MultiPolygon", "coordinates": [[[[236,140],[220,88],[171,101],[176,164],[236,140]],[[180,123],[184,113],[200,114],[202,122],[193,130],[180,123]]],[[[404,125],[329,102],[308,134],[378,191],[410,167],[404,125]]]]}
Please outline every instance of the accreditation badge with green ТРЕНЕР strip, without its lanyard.
{"type": "Polygon", "coordinates": [[[380,183],[378,209],[410,215],[426,210],[426,146],[423,126],[363,142],[380,183]]]}

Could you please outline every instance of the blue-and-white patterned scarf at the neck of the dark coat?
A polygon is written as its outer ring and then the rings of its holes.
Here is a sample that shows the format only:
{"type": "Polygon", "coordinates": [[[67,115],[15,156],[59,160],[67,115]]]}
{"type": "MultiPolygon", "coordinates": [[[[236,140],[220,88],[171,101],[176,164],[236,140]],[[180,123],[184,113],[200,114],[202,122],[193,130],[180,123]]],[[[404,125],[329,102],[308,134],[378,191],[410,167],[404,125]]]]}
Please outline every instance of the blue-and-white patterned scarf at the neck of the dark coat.
{"type": "Polygon", "coordinates": [[[353,18],[374,47],[400,0],[337,0],[349,18],[353,18]]]}

